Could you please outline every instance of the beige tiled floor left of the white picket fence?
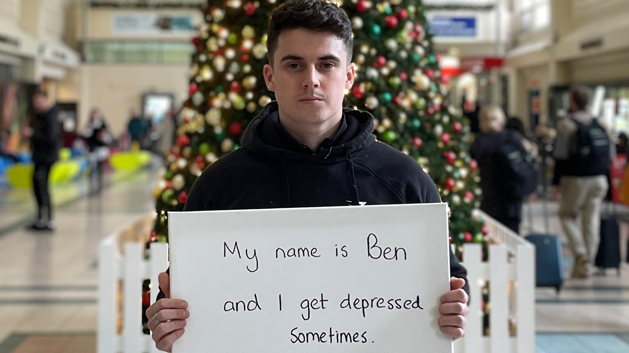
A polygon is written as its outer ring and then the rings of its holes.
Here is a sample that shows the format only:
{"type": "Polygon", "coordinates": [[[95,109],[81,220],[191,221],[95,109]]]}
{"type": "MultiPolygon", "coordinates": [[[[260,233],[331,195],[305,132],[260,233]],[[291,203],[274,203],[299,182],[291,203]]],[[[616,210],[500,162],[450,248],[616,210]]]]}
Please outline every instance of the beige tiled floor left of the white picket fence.
{"type": "Polygon", "coordinates": [[[109,175],[109,187],[53,188],[53,234],[30,232],[29,189],[0,189],[0,353],[96,351],[97,246],[154,210],[155,169],[109,175]]]}

